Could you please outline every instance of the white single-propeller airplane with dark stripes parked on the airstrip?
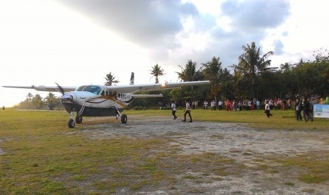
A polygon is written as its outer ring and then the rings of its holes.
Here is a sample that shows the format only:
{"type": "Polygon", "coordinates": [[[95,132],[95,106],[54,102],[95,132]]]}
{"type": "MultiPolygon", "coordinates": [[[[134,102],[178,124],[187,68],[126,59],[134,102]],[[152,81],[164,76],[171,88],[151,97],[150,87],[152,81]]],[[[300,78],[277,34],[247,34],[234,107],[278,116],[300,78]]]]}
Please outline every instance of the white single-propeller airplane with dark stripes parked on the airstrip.
{"type": "Polygon", "coordinates": [[[204,85],[210,81],[188,81],[178,83],[152,83],[134,85],[134,73],[130,77],[129,85],[81,85],[81,86],[2,86],[4,88],[25,88],[38,91],[49,91],[62,93],[60,100],[65,110],[70,115],[68,122],[69,128],[74,128],[81,124],[82,117],[120,117],[122,124],[127,123],[127,115],[121,112],[127,107],[134,98],[156,98],[158,95],[138,95],[135,93],[171,90],[186,85],[204,85]],[[74,117],[76,112],[76,117],[74,117]]]}

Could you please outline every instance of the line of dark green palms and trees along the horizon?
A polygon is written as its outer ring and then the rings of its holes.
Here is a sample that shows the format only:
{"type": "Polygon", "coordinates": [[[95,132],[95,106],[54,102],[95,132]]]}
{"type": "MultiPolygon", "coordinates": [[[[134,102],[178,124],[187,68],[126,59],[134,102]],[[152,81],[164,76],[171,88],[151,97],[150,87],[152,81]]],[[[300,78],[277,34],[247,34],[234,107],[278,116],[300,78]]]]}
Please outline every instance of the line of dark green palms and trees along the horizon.
{"type": "MultiPolygon", "coordinates": [[[[229,66],[229,69],[222,68],[221,59],[212,57],[206,63],[197,66],[197,62],[188,59],[185,66],[178,65],[180,72],[178,78],[181,81],[202,81],[209,80],[211,85],[183,86],[178,89],[161,92],[162,100],[158,98],[138,99],[132,102],[132,107],[156,107],[158,102],[170,102],[175,100],[183,102],[189,100],[265,100],[266,98],[294,99],[297,97],[329,95],[329,53],[327,49],[319,49],[313,52],[313,61],[300,59],[296,64],[286,62],[279,67],[272,68],[270,56],[274,52],[262,54],[260,47],[251,42],[250,45],[242,47],[243,54],[238,57],[238,64],[229,66]]],[[[151,66],[151,78],[155,83],[159,77],[165,75],[163,68],[156,64],[151,66]]],[[[151,79],[150,78],[150,79],[151,79]]],[[[105,85],[119,83],[114,74],[106,74],[105,85]]],[[[56,96],[49,93],[45,100],[40,95],[29,93],[28,98],[20,103],[20,107],[40,108],[48,105],[50,109],[57,106],[60,101],[56,96]],[[33,104],[33,106],[31,106],[33,104]],[[27,106],[28,105],[28,106],[27,106]],[[53,106],[54,105],[54,106],[53,106]]]]}

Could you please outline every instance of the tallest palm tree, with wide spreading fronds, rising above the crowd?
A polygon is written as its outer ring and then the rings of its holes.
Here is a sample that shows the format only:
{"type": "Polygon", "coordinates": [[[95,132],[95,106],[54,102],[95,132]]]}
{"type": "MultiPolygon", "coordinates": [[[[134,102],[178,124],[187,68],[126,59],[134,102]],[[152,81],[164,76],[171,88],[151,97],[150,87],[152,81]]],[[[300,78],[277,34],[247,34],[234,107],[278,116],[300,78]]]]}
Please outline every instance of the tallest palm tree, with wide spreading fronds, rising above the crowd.
{"type": "Polygon", "coordinates": [[[266,71],[267,67],[270,66],[271,60],[268,60],[267,57],[270,57],[274,52],[267,52],[260,57],[260,47],[256,47],[255,42],[252,42],[251,45],[243,46],[242,49],[244,53],[238,57],[238,65],[233,66],[243,76],[250,79],[253,85],[253,98],[255,98],[255,78],[258,73],[266,71]]]}

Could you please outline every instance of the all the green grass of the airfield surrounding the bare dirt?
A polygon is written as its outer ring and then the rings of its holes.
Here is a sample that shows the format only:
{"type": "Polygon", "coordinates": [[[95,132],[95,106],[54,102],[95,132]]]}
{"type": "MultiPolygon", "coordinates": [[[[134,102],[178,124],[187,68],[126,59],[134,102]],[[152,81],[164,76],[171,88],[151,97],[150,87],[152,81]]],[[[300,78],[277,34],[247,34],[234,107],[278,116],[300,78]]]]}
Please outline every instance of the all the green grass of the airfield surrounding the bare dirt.
{"type": "MultiPolygon", "coordinates": [[[[297,122],[293,111],[271,112],[273,118],[267,119],[262,111],[192,110],[192,118],[194,121],[246,123],[255,128],[278,131],[328,131],[328,119],[297,122]]],[[[171,110],[127,110],[124,113],[128,116],[171,116],[171,110]]],[[[183,110],[178,110],[177,115],[181,118],[183,110]]],[[[108,194],[124,187],[132,191],[158,185],[171,188],[177,182],[171,172],[185,172],[186,167],[193,169],[207,164],[204,175],[215,172],[218,177],[238,175],[246,169],[216,153],[178,155],[175,152],[178,148],[166,144],[168,138],[120,137],[104,141],[90,139],[83,134],[71,134],[95,121],[83,122],[69,129],[68,118],[67,112],[61,111],[6,109],[0,112],[0,194],[108,194]],[[169,162],[175,162],[175,166],[169,162]]],[[[98,122],[106,123],[108,120],[100,119],[98,122]]],[[[301,182],[329,180],[327,152],[258,160],[267,162],[258,167],[267,172],[306,170],[296,176],[301,182]],[[273,167],[273,162],[279,163],[279,167],[273,167]]],[[[185,175],[183,179],[194,177],[185,175]]]]}

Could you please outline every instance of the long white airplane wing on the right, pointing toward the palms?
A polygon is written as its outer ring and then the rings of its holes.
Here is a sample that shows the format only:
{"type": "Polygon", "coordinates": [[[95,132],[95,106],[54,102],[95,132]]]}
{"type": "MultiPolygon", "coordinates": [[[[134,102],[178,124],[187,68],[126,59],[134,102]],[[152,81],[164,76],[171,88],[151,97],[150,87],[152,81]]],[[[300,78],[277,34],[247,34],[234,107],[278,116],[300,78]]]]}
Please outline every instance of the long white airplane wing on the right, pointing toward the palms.
{"type": "Polygon", "coordinates": [[[154,83],[154,84],[134,84],[134,85],[111,85],[108,90],[115,93],[138,93],[154,90],[170,90],[181,86],[210,84],[210,81],[189,81],[179,83],[154,83]]]}

